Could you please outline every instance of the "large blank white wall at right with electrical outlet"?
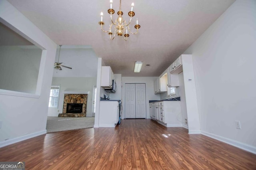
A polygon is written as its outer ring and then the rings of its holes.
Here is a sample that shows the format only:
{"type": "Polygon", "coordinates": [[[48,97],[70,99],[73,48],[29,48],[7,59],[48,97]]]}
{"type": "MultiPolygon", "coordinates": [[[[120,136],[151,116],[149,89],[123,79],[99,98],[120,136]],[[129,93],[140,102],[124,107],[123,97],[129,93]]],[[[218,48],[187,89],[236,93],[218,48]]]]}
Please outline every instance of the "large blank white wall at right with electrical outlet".
{"type": "Polygon", "coordinates": [[[185,53],[193,57],[202,132],[256,153],[255,28],[256,1],[236,0],[185,53]]]}

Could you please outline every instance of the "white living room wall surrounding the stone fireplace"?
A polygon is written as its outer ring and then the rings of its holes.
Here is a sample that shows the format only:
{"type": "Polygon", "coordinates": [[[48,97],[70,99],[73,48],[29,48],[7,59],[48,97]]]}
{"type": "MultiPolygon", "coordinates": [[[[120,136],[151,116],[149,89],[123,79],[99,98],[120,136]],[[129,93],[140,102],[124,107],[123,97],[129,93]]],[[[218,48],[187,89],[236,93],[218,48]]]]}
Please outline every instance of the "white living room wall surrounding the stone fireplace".
{"type": "Polygon", "coordinates": [[[58,117],[62,113],[64,94],[88,94],[86,117],[92,117],[93,86],[97,83],[97,77],[53,77],[52,84],[60,85],[60,98],[58,108],[49,107],[48,116],[58,117]]]}

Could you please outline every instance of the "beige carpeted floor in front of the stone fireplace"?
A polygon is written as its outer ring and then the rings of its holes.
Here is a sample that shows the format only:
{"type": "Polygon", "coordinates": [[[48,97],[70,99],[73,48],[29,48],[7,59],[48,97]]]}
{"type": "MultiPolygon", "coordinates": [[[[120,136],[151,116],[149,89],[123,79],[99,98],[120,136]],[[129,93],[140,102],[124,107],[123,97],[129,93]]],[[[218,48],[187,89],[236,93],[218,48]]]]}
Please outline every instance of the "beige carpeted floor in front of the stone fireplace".
{"type": "Polygon", "coordinates": [[[80,128],[93,128],[94,117],[47,117],[47,133],[74,130],[80,128]]]}

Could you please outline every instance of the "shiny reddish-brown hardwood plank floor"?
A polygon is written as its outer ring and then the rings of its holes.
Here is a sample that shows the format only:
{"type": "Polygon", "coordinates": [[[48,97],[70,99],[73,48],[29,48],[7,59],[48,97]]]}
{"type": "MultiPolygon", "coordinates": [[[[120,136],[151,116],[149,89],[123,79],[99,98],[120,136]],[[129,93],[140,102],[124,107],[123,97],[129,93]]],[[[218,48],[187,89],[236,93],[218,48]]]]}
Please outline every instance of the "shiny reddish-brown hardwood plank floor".
{"type": "Polygon", "coordinates": [[[25,161],[27,170],[256,170],[255,154],[150,119],[37,136],[0,148],[0,161],[25,161]]]}

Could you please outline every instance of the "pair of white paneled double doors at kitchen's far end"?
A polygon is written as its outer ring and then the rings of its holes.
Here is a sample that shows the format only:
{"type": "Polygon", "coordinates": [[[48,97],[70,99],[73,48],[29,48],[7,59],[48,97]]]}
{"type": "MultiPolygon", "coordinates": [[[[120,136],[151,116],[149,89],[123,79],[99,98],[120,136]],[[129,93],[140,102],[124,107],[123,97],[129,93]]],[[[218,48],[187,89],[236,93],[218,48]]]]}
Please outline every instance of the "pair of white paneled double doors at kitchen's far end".
{"type": "Polygon", "coordinates": [[[125,119],[146,119],[146,84],[125,83],[125,119]]]}

